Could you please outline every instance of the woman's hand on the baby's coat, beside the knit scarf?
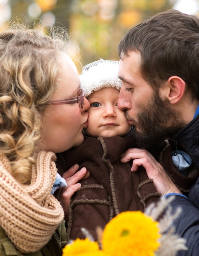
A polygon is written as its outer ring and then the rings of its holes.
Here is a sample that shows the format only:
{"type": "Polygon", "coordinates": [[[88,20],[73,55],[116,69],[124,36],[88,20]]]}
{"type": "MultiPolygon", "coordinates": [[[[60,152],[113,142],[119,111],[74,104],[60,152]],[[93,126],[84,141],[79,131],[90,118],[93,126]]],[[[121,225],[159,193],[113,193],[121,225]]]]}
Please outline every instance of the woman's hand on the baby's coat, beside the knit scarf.
{"type": "Polygon", "coordinates": [[[66,220],[68,219],[70,199],[72,195],[81,187],[81,183],[78,183],[78,181],[86,179],[90,176],[90,173],[86,170],[85,167],[81,168],[81,170],[77,172],[78,168],[79,165],[75,164],[68,171],[63,173],[63,178],[66,180],[68,187],[61,189],[59,198],[65,213],[66,220]]]}

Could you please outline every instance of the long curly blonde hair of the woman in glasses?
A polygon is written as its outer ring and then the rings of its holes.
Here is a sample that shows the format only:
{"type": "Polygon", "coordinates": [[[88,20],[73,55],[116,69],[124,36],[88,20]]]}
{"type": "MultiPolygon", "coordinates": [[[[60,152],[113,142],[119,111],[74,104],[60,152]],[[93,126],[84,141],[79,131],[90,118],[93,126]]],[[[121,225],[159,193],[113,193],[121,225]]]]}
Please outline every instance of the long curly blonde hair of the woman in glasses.
{"type": "Polygon", "coordinates": [[[17,24],[0,31],[0,153],[22,184],[31,180],[42,113],[56,88],[59,53],[68,51],[66,30],[55,30],[47,36],[17,24]]]}

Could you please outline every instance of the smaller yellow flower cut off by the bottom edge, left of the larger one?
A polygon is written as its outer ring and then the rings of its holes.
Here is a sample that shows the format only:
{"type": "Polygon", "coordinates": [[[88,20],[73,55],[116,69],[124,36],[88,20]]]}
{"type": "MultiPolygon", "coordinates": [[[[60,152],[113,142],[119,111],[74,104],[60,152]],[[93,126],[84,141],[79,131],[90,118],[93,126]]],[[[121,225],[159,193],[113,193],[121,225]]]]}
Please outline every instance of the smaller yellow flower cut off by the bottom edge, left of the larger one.
{"type": "Polygon", "coordinates": [[[99,249],[97,242],[92,242],[88,238],[77,238],[73,243],[63,248],[62,256],[105,256],[99,249]]]}

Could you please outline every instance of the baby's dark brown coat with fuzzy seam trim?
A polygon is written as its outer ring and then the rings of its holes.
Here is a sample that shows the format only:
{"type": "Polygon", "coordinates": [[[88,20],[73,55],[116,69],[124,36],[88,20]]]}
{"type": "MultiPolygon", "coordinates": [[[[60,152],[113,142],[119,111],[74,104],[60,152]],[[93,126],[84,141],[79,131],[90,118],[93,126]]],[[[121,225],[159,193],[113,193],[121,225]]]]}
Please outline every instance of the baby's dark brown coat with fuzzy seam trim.
{"type": "Polygon", "coordinates": [[[120,155],[133,145],[133,136],[85,137],[81,146],[61,154],[66,170],[78,163],[80,168],[85,166],[90,171],[90,177],[81,181],[81,189],[71,201],[68,239],[85,238],[83,227],[97,240],[97,227],[103,229],[118,213],[144,211],[148,204],[159,200],[160,194],[143,167],[132,173],[132,162],[120,162],[120,155]]]}

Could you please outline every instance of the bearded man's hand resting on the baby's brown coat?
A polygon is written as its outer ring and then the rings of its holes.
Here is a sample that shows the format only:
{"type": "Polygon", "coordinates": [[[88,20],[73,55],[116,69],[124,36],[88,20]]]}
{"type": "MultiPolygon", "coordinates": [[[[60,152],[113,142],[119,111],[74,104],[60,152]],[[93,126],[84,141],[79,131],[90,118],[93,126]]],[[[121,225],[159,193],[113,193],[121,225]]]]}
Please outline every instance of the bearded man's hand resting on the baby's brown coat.
{"type": "Polygon", "coordinates": [[[121,162],[126,163],[133,159],[131,171],[138,170],[138,166],[146,169],[149,179],[153,179],[153,183],[159,193],[166,195],[169,193],[181,193],[175,186],[170,177],[166,174],[162,165],[146,149],[131,148],[121,155],[121,162]]]}

